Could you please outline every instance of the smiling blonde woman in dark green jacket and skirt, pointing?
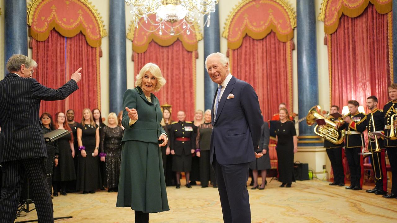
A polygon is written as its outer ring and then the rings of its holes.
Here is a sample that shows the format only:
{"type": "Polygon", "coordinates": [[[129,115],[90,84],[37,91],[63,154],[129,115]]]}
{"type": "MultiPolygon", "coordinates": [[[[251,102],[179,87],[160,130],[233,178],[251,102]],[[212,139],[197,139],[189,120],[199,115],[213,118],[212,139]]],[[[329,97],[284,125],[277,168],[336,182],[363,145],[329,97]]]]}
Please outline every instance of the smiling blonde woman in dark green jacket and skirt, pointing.
{"type": "Polygon", "coordinates": [[[136,80],[137,87],[126,90],[123,96],[121,122],[125,130],[116,206],[131,207],[135,223],[147,223],[149,213],[170,210],[160,149],[168,137],[160,125],[160,103],[152,93],[166,80],[154,63],[143,66],[136,80]]]}

